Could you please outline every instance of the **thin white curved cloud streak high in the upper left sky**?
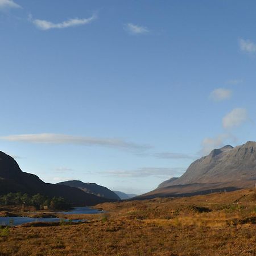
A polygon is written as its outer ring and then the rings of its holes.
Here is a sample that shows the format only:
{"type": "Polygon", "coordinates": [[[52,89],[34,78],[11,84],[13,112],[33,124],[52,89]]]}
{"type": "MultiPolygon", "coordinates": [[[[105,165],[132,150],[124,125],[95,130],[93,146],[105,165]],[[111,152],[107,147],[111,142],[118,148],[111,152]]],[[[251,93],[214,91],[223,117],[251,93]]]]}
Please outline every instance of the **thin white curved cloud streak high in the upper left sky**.
{"type": "Polygon", "coordinates": [[[41,30],[50,30],[52,28],[67,28],[67,27],[74,27],[74,26],[88,24],[93,20],[95,20],[96,18],[97,18],[96,15],[93,15],[87,19],[77,19],[77,18],[68,19],[60,23],[53,23],[43,19],[34,19],[32,20],[32,22],[35,24],[36,27],[40,28],[41,30]]]}

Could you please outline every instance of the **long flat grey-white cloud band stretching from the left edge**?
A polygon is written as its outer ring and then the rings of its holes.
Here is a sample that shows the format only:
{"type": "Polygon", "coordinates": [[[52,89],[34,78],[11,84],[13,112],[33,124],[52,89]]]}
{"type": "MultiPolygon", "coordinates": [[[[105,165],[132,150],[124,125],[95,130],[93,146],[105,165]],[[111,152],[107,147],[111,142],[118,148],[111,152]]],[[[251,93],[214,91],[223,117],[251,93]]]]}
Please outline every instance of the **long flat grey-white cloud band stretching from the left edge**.
{"type": "Polygon", "coordinates": [[[48,143],[48,144],[79,144],[84,146],[105,146],[113,148],[122,148],[123,150],[146,150],[151,148],[149,145],[142,145],[133,142],[127,142],[117,138],[94,138],[74,136],[67,134],[19,134],[0,137],[5,141],[27,142],[27,143],[48,143]]]}

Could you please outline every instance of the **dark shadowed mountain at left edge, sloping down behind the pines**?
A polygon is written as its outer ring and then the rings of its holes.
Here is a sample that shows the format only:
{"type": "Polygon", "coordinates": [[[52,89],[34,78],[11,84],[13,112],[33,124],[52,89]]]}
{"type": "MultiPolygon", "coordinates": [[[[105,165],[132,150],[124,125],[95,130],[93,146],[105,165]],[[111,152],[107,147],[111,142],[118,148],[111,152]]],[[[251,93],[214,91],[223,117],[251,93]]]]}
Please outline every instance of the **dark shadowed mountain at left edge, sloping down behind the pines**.
{"type": "Polygon", "coordinates": [[[11,156],[0,151],[0,195],[10,192],[61,196],[76,205],[95,205],[111,201],[85,193],[78,188],[44,183],[38,176],[20,170],[18,163],[11,156]]]}

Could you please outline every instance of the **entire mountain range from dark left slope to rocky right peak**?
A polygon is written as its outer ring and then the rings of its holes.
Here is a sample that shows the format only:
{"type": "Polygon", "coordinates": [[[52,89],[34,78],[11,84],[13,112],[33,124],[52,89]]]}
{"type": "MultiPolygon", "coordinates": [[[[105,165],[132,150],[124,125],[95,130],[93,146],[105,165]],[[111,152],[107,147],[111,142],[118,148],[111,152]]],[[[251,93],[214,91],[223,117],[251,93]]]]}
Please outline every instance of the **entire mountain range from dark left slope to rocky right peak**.
{"type": "Polygon", "coordinates": [[[141,200],[164,196],[189,196],[256,187],[256,142],[214,149],[193,162],[180,177],[172,177],[154,191],[141,196],[126,195],[95,183],[79,180],[44,183],[38,176],[20,170],[18,163],[0,151],[0,195],[22,192],[61,196],[75,205],[95,205],[120,199],[141,200]],[[135,196],[135,197],[134,197],[135,196]]]}

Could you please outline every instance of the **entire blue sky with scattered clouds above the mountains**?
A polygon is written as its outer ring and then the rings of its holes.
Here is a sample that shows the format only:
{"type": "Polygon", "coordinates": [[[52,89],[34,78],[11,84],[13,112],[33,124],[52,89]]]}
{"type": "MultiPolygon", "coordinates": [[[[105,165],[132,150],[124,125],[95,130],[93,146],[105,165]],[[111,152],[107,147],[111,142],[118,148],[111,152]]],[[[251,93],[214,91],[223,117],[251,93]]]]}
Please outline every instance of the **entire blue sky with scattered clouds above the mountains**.
{"type": "Polygon", "coordinates": [[[0,150],[48,183],[145,193],[255,141],[253,0],[0,0],[0,150]]]}

